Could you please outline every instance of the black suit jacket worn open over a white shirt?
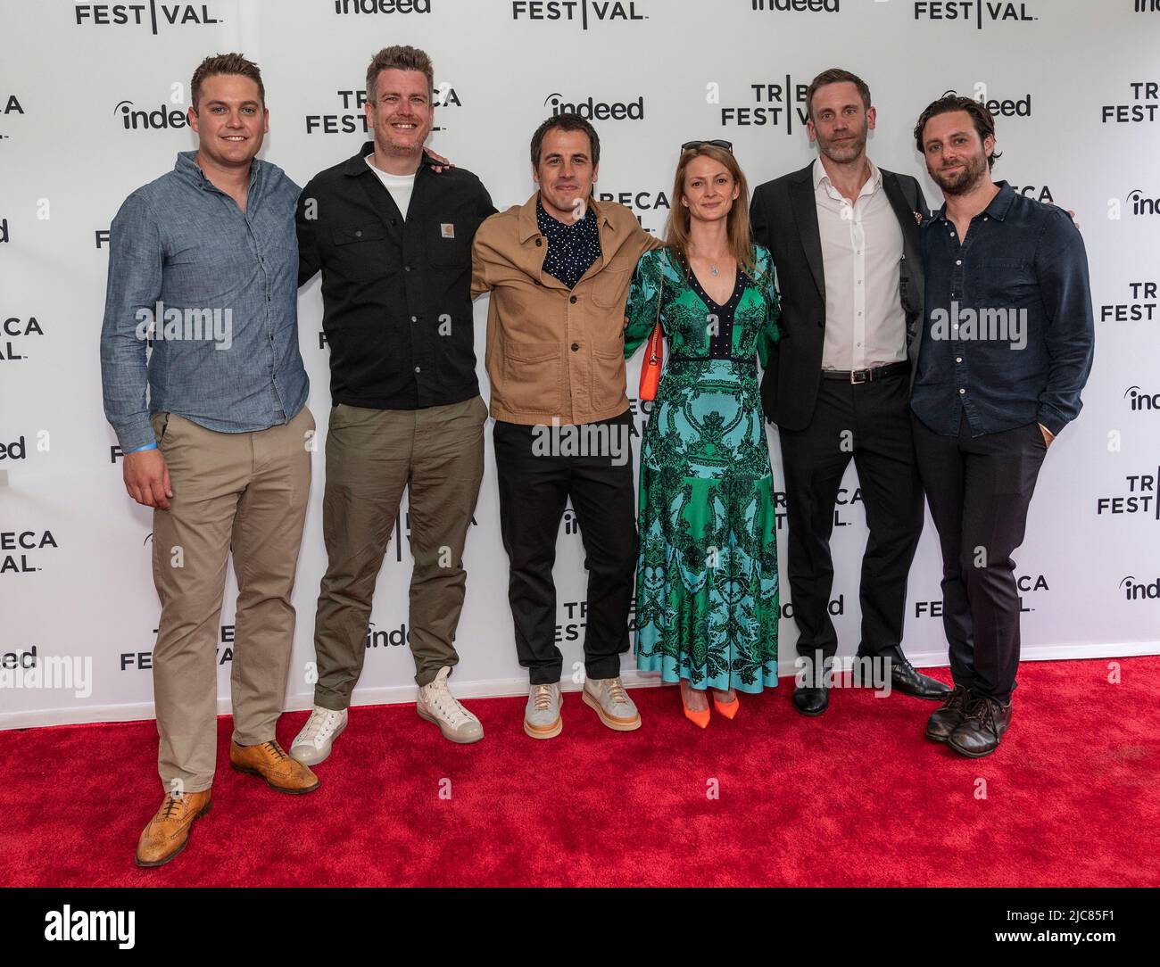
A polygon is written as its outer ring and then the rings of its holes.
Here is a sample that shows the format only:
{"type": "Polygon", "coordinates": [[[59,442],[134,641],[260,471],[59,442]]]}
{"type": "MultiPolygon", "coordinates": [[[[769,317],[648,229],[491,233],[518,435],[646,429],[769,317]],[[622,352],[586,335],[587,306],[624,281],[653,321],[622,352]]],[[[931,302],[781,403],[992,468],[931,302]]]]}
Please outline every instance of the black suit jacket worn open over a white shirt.
{"type": "MultiPolygon", "coordinates": [[[[906,347],[913,383],[922,340],[922,249],[915,215],[927,219],[930,212],[915,179],[885,168],[879,170],[886,197],[902,227],[899,298],[906,312],[906,347]]],[[[759,186],[753,192],[749,218],[754,241],[774,256],[782,301],[783,339],[775,343],[761,379],[761,403],[766,417],[777,426],[803,430],[813,419],[818,401],[826,333],[826,278],[813,163],[759,186]]]]}

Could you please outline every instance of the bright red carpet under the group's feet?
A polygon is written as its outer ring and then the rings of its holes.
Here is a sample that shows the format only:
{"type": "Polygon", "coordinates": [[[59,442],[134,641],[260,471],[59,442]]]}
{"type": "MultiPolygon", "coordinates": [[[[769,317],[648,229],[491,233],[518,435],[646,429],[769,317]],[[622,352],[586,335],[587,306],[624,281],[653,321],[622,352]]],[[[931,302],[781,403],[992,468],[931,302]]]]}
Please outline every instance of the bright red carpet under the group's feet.
{"type": "Polygon", "coordinates": [[[934,703],[838,690],[804,719],[783,679],[703,733],[672,688],[633,691],[629,734],[570,692],[546,742],[523,699],[469,703],[469,747],[413,706],[355,708],[322,787],[291,797],[230,769],[222,719],[213,812],[158,870],[132,864],[161,801],[153,722],[5,732],[0,885],[1158,886],[1160,659],[1119,664],[1121,684],[1105,660],[1023,664],[977,761],[923,739],[934,703]]]}

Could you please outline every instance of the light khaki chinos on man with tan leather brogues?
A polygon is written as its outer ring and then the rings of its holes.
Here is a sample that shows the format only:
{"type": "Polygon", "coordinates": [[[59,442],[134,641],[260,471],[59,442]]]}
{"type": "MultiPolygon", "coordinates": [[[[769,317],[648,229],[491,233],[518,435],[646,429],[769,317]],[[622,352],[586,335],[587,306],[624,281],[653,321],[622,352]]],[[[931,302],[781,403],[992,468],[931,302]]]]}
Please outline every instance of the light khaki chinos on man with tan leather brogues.
{"type": "Polygon", "coordinates": [[[282,713],[314,417],[303,407],[289,423],[242,434],[172,413],[152,422],[173,483],[171,509],[153,511],[158,770],[166,792],[200,792],[213,781],[217,759],[218,625],[231,553],[233,741],[270,741],[282,713]]]}

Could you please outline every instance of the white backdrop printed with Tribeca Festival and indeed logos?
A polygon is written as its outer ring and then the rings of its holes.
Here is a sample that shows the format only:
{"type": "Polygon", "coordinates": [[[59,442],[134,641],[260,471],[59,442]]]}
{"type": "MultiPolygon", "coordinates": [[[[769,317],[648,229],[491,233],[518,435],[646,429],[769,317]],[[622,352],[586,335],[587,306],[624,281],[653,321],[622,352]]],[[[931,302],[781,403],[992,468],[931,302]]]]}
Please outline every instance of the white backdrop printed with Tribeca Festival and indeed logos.
{"type": "MultiPolygon", "coordinates": [[[[948,88],[981,97],[1006,152],[996,176],[1074,209],[1092,264],[1095,369],[1079,421],[1052,446],[1017,554],[1025,657],[1160,653],[1160,3],[1157,0],[0,0],[0,727],[152,715],[158,601],[151,512],[121,482],[104,422],[97,339],[108,230],[138,186],[195,145],[189,78],[206,54],[262,68],[262,157],[299,184],[364,140],[371,54],[408,43],[434,58],[430,145],[479,174],[500,208],[532,190],[528,141],[560,104],[592,111],[597,190],[660,232],[679,145],[728,138],[752,184],[813,152],[803,97],[819,71],[861,74],[878,108],[870,154],[927,180],[911,131],[948,88]],[[625,106],[619,108],[618,106],[625,106]],[[57,661],[53,661],[57,660],[57,661]],[[67,664],[64,661],[66,660],[67,664]],[[73,681],[64,674],[67,670],[73,681]],[[53,681],[55,679],[55,681],[53,681]]],[[[483,348],[486,303],[476,307],[483,348]]],[[[329,407],[316,279],[299,335],[320,431],[329,407]]],[[[637,383],[639,359],[630,366],[637,383]]],[[[480,361],[483,376],[483,362],[480,361]]],[[[485,383],[486,394],[486,383],[485,383]]],[[[647,419],[633,401],[636,427],[647,419]]],[[[466,550],[463,696],[520,691],[488,437],[466,550]]],[[[777,437],[770,434],[781,479],[777,437]]],[[[298,568],[287,707],[310,704],[314,602],[325,568],[322,453],[298,568]]],[[[835,515],[831,610],[857,646],[865,524],[850,470],[835,515]]],[[[785,539],[784,519],[778,537],[785,539]]],[[[784,559],[784,550],[783,550],[784,559]]],[[[566,669],[585,627],[583,557],[565,515],[556,566],[566,669]]],[[[379,576],[356,703],[413,698],[406,647],[406,518],[379,576]]],[[[784,572],[783,572],[784,574],[784,572]]],[[[945,663],[940,559],[927,523],[911,574],[906,646],[945,663]]],[[[218,641],[229,710],[231,576],[218,641]]],[[[782,587],[782,671],[796,630],[782,587]]],[[[639,681],[631,655],[626,678],[639,681]]]]}

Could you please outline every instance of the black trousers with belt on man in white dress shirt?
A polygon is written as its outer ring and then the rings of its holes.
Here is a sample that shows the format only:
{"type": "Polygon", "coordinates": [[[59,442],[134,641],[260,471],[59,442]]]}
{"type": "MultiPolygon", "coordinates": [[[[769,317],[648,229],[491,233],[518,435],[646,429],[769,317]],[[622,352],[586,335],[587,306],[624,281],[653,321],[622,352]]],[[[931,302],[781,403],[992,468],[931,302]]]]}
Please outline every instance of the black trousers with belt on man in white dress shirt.
{"type": "Polygon", "coordinates": [[[858,473],[870,536],[862,557],[860,656],[901,657],[906,579],[922,533],[922,485],[914,463],[906,372],[850,385],[822,379],[813,420],[780,429],[789,517],[789,577],[798,654],[838,650],[828,604],[829,536],[842,474],[858,473]]]}

